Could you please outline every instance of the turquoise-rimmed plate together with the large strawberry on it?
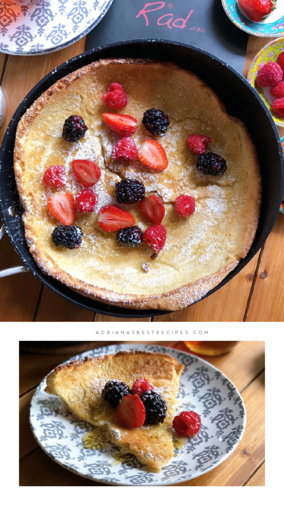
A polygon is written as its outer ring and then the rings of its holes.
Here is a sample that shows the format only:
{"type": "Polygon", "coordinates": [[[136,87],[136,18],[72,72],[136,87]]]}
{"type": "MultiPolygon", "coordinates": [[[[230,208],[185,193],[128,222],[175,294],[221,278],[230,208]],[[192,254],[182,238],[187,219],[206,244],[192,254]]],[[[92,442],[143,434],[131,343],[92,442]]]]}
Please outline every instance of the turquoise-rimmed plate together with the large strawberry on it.
{"type": "Polygon", "coordinates": [[[229,19],[238,28],[257,37],[284,34],[282,0],[222,0],[229,19]]]}

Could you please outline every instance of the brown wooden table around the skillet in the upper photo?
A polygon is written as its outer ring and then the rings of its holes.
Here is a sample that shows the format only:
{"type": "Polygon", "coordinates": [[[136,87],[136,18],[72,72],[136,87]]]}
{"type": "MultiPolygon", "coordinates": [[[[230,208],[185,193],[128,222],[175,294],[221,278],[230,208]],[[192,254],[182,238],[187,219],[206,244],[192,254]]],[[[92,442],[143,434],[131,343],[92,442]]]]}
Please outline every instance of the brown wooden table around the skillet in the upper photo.
{"type": "MultiPolygon", "coordinates": [[[[248,40],[245,77],[254,56],[269,40],[273,39],[251,36],[248,40]]],[[[82,53],[85,44],[86,39],[82,39],[66,49],[44,56],[7,56],[0,53],[0,82],[8,96],[8,112],[0,131],[1,138],[27,92],[54,67],[82,53]]],[[[279,128],[279,133],[284,135],[284,128],[279,128]]],[[[8,236],[5,236],[0,244],[0,269],[20,263],[8,236]]],[[[282,321],[283,264],[284,215],[279,213],[259,253],[221,290],[189,308],[154,317],[154,321],[282,321]]],[[[66,302],[30,273],[0,279],[0,293],[0,321],[129,320],[94,314],[66,302]]]]}

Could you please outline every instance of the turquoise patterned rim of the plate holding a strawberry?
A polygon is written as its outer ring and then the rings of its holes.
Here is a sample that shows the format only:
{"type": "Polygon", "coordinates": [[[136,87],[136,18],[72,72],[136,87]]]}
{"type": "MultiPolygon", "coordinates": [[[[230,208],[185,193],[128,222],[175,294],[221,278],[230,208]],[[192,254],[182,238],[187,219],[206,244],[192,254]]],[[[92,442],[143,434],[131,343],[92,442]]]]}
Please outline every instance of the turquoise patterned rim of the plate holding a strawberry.
{"type": "Polygon", "coordinates": [[[276,22],[260,24],[246,19],[239,11],[236,0],[222,0],[222,5],[230,21],[250,35],[256,35],[256,37],[281,37],[284,35],[284,16],[277,21],[282,28],[281,31],[271,31],[273,27],[277,28],[276,22]]]}

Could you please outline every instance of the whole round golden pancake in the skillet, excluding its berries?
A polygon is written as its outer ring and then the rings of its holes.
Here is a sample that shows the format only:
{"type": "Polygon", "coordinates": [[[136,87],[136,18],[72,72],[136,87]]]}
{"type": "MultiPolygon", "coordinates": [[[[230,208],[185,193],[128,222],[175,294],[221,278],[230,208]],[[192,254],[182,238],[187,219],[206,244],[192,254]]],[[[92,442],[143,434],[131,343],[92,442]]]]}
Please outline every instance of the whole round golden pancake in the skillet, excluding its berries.
{"type": "MultiPolygon", "coordinates": [[[[133,138],[139,146],[149,134],[139,125],[133,138]]],[[[238,119],[227,115],[208,86],[172,63],[100,60],[61,79],[20,120],[14,168],[25,208],[26,240],[40,268],[78,293],[112,305],[162,310],[186,307],[236,267],[256,233],[261,181],[250,136],[238,119]],[[120,111],[109,110],[101,100],[107,83],[114,81],[121,82],[128,95],[128,105],[120,111]],[[139,161],[114,162],[111,152],[118,137],[105,127],[101,113],[133,115],[140,123],[143,112],[152,106],[163,109],[171,120],[166,135],[159,137],[168,168],[158,171],[139,161]],[[74,146],[61,137],[63,121],[70,114],[82,115],[89,126],[85,137],[76,142],[75,154],[74,146]],[[227,160],[224,175],[196,173],[196,155],[186,147],[189,133],[211,136],[210,150],[227,160]],[[102,232],[95,213],[76,215],[74,224],[84,233],[79,249],[62,250],[51,242],[51,231],[58,222],[46,202],[57,190],[45,187],[42,176],[49,165],[63,164],[72,178],[70,164],[76,156],[102,168],[103,177],[94,187],[99,208],[116,203],[114,185],[124,177],[138,178],[147,194],[157,193],[163,199],[167,241],[154,262],[146,244],[126,250],[116,242],[115,234],[102,232]],[[175,198],[181,193],[196,200],[196,212],[186,220],[174,212],[175,198]],[[148,273],[143,271],[143,263],[149,265],[148,273]]],[[[80,191],[74,176],[68,184],[66,191],[74,195],[80,191]]],[[[143,231],[149,226],[137,205],[121,207],[133,213],[143,231]]]]}

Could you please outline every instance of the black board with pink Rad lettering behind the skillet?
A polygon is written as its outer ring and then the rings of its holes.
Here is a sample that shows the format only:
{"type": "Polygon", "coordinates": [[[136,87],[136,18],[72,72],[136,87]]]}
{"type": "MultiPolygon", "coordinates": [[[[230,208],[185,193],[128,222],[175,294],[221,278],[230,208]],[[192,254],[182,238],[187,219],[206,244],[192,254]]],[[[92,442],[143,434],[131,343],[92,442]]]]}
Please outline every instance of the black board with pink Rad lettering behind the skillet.
{"type": "Polygon", "coordinates": [[[204,49],[243,73],[247,34],[226,16],[221,0],[113,0],[89,33],[87,50],[137,39],[164,39],[204,49]]]}

